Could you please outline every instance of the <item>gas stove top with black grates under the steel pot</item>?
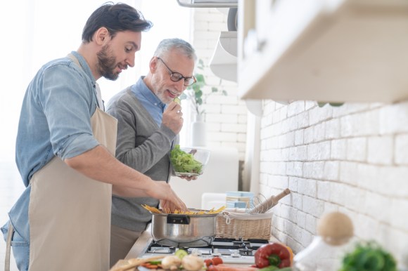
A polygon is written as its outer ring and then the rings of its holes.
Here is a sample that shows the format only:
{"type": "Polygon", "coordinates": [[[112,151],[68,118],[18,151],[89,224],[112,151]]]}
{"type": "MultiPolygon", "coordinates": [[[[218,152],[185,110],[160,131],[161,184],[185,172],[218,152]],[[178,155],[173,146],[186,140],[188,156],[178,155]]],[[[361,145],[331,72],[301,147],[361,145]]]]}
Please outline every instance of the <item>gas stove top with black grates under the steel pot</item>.
{"type": "Polygon", "coordinates": [[[224,263],[255,263],[254,254],[255,251],[267,244],[268,240],[264,239],[229,239],[229,238],[215,238],[208,246],[200,247],[174,247],[158,244],[153,239],[146,246],[143,257],[152,257],[158,255],[169,254],[172,255],[178,249],[184,249],[189,254],[195,253],[202,258],[212,258],[219,256],[224,263]]]}

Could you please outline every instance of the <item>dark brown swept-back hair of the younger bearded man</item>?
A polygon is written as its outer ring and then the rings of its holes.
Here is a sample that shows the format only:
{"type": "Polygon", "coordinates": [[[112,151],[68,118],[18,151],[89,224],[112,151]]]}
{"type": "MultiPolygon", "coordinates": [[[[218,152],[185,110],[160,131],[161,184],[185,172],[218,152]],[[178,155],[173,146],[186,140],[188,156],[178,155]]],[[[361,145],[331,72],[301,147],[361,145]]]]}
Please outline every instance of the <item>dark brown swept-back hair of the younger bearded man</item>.
{"type": "Polygon", "coordinates": [[[148,31],[153,26],[149,20],[145,20],[140,11],[124,3],[113,4],[107,2],[100,6],[88,18],[82,31],[82,42],[92,41],[92,36],[101,27],[108,29],[110,36],[115,37],[117,32],[148,31]]]}

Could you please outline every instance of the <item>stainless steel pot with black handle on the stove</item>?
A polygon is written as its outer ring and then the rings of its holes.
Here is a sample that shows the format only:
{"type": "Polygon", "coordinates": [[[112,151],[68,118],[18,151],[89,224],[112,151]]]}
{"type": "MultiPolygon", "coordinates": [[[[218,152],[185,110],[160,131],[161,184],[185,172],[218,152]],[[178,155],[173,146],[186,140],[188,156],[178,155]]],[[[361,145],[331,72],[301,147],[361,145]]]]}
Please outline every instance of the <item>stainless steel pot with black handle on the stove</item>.
{"type": "Polygon", "coordinates": [[[215,237],[216,216],[153,213],[153,239],[165,246],[208,246],[215,237]]]}

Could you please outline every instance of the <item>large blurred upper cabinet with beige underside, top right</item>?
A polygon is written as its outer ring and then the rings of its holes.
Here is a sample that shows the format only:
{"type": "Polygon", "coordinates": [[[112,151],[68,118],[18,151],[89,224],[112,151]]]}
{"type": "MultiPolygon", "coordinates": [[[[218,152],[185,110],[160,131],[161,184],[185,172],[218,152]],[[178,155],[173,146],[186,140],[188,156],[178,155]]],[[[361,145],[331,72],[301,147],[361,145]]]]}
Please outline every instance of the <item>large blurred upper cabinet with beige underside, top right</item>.
{"type": "Polygon", "coordinates": [[[408,98],[408,1],[239,0],[243,99],[408,98]]]}

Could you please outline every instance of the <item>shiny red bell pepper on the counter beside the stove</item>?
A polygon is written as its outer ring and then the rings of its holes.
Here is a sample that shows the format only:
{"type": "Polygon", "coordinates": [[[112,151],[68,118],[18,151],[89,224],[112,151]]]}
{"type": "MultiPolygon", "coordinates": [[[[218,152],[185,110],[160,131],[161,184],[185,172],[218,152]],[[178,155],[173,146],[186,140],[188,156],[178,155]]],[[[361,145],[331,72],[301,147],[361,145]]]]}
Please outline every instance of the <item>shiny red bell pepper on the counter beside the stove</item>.
{"type": "Polygon", "coordinates": [[[255,251],[255,265],[258,268],[269,265],[279,268],[291,266],[291,252],[279,243],[264,244],[255,251]]]}

